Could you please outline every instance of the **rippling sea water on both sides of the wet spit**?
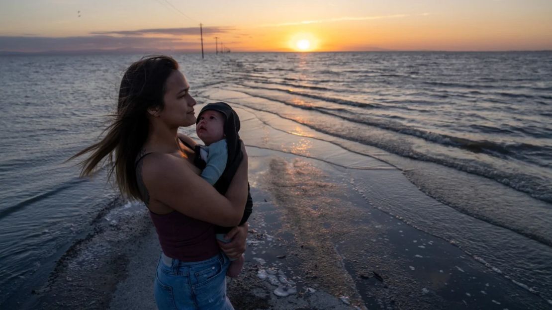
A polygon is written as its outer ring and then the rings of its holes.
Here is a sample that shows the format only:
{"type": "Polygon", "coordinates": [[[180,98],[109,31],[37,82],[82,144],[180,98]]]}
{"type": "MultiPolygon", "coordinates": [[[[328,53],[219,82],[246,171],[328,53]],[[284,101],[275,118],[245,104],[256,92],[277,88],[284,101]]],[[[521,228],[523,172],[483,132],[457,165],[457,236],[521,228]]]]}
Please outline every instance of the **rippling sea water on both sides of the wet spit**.
{"type": "MultiPolygon", "coordinates": [[[[0,57],[0,304],[25,281],[44,279],[98,214],[124,205],[104,179],[78,179],[64,161],[101,134],[120,77],[139,57],[0,57]]],[[[424,193],[552,246],[552,53],[176,58],[198,99],[225,89],[268,100],[244,104],[344,146],[377,147],[374,156],[424,193]]],[[[450,231],[432,233],[454,239],[450,231]]]]}

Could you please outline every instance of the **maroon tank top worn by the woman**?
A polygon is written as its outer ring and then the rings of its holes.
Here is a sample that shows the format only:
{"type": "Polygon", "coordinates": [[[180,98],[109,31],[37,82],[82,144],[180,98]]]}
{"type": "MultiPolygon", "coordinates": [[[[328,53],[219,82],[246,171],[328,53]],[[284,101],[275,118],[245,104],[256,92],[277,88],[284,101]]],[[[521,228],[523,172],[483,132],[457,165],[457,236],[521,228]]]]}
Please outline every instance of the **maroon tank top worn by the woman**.
{"type": "MultiPolygon", "coordinates": [[[[146,153],[136,159],[136,167],[146,153]]],[[[141,176],[137,176],[141,177],[141,176]]],[[[142,193],[142,197],[147,197],[142,193]]],[[[147,202],[146,202],[147,205],[147,202]]],[[[157,231],[163,253],[182,261],[201,261],[220,253],[216,243],[215,226],[196,220],[178,211],[157,214],[150,211],[150,217],[157,231]]]]}

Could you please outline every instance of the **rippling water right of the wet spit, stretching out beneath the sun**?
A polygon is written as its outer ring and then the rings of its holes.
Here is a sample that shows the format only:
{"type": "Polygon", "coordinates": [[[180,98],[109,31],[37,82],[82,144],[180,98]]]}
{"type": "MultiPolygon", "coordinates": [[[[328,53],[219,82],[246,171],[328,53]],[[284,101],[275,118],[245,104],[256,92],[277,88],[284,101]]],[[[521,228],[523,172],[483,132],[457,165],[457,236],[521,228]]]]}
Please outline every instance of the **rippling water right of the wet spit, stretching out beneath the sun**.
{"type": "Polygon", "coordinates": [[[404,134],[336,135],[552,202],[550,53],[258,54],[229,63],[227,77],[248,88],[300,95],[290,104],[404,134]]]}

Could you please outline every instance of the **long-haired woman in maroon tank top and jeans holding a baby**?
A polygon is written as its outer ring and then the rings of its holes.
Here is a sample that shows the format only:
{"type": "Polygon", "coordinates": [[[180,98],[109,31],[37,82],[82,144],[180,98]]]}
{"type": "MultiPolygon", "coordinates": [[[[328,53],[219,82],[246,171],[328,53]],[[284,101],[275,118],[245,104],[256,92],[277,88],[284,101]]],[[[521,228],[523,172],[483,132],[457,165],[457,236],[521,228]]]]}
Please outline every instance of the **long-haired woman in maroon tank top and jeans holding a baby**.
{"type": "Polygon", "coordinates": [[[160,309],[233,309],[226,297],[229,259],[245,251],[247,225],[233,229],[231,243],[217,244],[214,225],[236,226],[247,198],[247,154],[225,196],[199,177],[194,141],[177,138],[195,124],[195,100],[178,63],[150,56],[132,63],[119,90],[113,123],[102,141],[79,152],[82,175],[108,157],[121,193],[145,202],[163,253],[155,300],[160,309]],[[221,248],[226,255],[221,253],[221,248]]]}

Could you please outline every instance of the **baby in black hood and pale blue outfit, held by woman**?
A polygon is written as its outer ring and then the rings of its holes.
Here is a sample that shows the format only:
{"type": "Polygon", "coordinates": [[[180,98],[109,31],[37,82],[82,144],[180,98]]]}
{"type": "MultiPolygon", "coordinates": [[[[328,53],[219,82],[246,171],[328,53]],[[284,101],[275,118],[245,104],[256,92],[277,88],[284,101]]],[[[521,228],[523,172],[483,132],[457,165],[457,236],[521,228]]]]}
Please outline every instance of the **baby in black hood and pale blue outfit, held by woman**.
{"type": "MultiPolygon", "coordinates": [[[[241,151],[242,141],[238,135],[240,131],[240,119],[230,105],[224,102],[205,105],[198,114],[195,132],[205,143],[205,146],[195,148],[195,164],[204,167],[201,178],[215,186],[221,194],[225,194],[237,167],[243,158],[241,151]]],[[[247,192],[247,202],[240,225],[247,221],[251,215],[253,200],[247,192]]],[[[216,238],[222,242],[230,242],[225,239],[226,233],[232,227],[215,226],[216,238]]],[[[232,259],[231,259],[232,260],[232,259]]],[[[227,275],[237,277],[243,268],[245,258],[232,260],[227,275]]]]}

